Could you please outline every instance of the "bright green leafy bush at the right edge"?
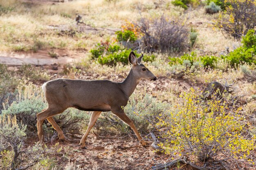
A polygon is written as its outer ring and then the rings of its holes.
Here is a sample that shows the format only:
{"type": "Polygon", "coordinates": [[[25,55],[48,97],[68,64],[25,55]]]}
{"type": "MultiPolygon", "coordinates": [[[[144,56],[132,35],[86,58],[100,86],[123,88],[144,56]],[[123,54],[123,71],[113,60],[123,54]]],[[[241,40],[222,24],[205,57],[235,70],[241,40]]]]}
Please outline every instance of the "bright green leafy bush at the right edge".
{"type": "Polygon", "coordinates": [[[242,42],[242,46],[229,53],[229,55],[222,56],[222,58],[227,58],[233,67],[245,63],[256,64],[256,35],[254,30],[249,30],[243,37],[242,42]]]}

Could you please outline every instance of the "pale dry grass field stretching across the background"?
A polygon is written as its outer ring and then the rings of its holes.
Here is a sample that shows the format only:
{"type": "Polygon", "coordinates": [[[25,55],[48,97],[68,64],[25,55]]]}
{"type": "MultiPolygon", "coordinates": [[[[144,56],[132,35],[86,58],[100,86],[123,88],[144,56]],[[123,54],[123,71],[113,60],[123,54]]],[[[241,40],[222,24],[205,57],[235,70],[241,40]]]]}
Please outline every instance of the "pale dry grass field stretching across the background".
{"type": "Polygon", "coordinates": [[[125,20],[137,21],[142,16],[155,17],[165,13],[170,18],[180,18],[184,23],[198,27],[199,35],[195,51],[198,53],[214,53],[225,51],[228,46],[238,46],[239,42],[225,38],[220,30],[213,30],[211,25],[216,15],[204,14],[204,8],[182,13],[183,9],[173,7],[168,1],[146,0],[77,0],[65,3],[23,2],[22,0],[0,0],[5,7],[15,7],[13,11],[0,15],[0,36],[2,46],[0,51],[19,51],[17,46],[24,47],[20,51],[33,49],[35,39],[45,43],[45,49],[90,50],[92,46],[106,38],[113,40],[114,35],[97,32],[95,34],[81,33],[78,37],[58,35],[58,31],[49,29],[50,25],[76,24],[76,14],[82,16],[85,24],[95,28],[120,28],[125,20]],[[115,10],[113,10],[115,9],[115,10]],[[197,24],[202,22],[202,24],[197,24]],[[204,51],[204,52],[203,52],[204,51]]]}

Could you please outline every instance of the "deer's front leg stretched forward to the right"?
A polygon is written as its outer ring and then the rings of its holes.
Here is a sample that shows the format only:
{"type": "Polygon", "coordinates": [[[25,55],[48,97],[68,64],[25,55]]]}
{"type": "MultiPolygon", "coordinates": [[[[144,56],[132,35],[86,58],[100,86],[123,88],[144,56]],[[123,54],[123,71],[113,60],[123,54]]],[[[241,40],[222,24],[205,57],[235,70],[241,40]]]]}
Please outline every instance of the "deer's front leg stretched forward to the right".
{"type": "Polygon", "coordinates": [[[146,148],[146,142],[142,139],[141,135],[139,134],[139,132],[138,132],[137,128],[135,127],[134,123],[132,122],[132,120],[124,113],[124,110],[122,110],[120,108],[119,110],[112,110],[112,112],[132,128],[133,132],[139,139],[141,145],[144,148],[146,148]]]}

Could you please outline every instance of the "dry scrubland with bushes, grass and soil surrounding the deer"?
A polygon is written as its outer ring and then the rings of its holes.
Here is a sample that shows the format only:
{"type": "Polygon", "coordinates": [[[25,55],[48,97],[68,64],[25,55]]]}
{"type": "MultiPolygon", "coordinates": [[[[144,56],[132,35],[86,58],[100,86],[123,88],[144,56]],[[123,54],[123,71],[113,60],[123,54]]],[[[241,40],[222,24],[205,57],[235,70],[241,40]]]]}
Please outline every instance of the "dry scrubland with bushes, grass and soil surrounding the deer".
{"type": "Polygon", "coordinates": [[[8,64],[0,64],[0,169],[254,169],[255,5],[0,0],[0,62],[8,64]],[[148,147],[103,112],[81,150],[90,112],[75,108],[53,118],[77,141],[63,144],[45,120],[45,145],[38,144],[36,114],[47,107],[41,85],[56,78],[121,82],[130,51],[143,53],[142,64],[157,76],[141,80],[124,107],[148,147]],[[25,64],[35,58],[56,63],[25,64]]]}

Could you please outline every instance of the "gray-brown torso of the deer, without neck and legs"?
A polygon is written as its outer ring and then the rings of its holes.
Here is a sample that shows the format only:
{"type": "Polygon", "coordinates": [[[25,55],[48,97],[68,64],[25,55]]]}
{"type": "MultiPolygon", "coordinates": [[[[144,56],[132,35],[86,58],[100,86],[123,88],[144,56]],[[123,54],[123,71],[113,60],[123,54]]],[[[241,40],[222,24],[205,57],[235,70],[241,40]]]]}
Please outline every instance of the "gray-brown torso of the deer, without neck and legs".
{"type": "Polygon", "coordinates": [[[54,79],[43,89],[49,105],[87,111],[110,111],[111,106],[126,106],[128,101],[119,84],[110,80],[54,79]]]}

